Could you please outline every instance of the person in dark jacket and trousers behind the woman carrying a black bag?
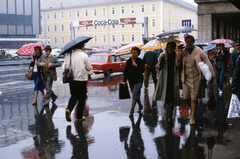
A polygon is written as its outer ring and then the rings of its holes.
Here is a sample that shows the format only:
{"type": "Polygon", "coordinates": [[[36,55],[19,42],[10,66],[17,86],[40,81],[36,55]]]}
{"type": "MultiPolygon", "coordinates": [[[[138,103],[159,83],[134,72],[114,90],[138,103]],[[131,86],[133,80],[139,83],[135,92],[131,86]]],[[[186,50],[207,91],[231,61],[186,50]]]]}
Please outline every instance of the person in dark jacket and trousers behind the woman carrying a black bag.
{"type": "Polygon", "coordinates": [[[149,75],[152,72],[152,78],[154,82],[154,88],[156,87],[157,84],[157,78],[156,78],[156,68],[155,65],[158,62],[158,57],[155,52],[147,51],[144,54],[143,57],[143,62],[145,64],[145,72],[144,72],[144,90],[148,90],[148,81],[149,81],[149,75]]]}

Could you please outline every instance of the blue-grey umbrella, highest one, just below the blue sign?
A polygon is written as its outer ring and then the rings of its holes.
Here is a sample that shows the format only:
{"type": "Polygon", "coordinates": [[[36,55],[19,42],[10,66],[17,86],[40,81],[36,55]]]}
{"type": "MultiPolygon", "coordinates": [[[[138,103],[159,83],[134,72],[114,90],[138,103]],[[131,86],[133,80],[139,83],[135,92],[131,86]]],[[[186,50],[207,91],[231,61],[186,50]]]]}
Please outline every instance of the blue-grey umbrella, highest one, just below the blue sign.
{"type": "Polygon", "coordinates": [[[168,36],[172,34],[189,33],[191,31],[197,31],[197,30],[191,27],[179,27],[179,28],[169,29],[165,32],[162,32],[159,35],[157,35],[157,37],[162,38],[164,36],[168,36]]]}

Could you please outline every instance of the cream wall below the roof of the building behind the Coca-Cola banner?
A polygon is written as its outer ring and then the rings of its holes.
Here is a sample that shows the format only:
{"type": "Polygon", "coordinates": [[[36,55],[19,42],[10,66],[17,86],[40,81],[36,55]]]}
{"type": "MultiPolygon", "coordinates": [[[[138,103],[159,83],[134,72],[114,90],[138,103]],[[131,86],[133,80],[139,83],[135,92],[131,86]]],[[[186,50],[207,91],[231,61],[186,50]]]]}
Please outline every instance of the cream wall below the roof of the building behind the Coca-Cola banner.
{"type": "MultiPolygon", "coordinates": [[[[182,20],[185,19],[192,19],[192,25],[195,29],[197,29],[198,20],[196,12],[183,6],[177,6],[173,3],[146,1],[41,11],[42,32],[38,38],[49,38],[51,41],[48,44],[61,47],[70,40],[71,32],[69,25],[72,21],[93,19],[103,20],[127,17],[148,17],[148,36],[153,37],[161,33],[163,30],[169,29],[169,9],[171,10],[170,29],[182,26],[182,20]],[[144,12],[141,10],[142,5],[144,5],[144,12]],[[134,13],[131,12],[132,6],[134,7],[134,13]],[[124,7],[124,13],[122,13],[122,7],[124,7]],[[105,8],[105,15],[103,15],[103,8],[105,8]],[[112,14],[112,8],[114,8],[114,14],[112,14]],[[86,10],[88,11],[88,16],[86,16],[86,10]],[[96,15],[94,14],[94,10],[96,10],[96,15]],[[77,12],[79,12],[79,17],[77,16],[77,12]],[[62,26],[64,26],[63,31],[62,26]],[[47,28],[49,28],[48,31],[47,28]]],[[[115,25],[115,28],[113,28],[113,26],[97,26],[97,28],[94,26],[79,27],[76,28],[75,35],[76,37],[84,35],[94,37],[88,45],[119,46],[121,44],[133,42],[142,43],[142,37],[144,37],[144,27],[142,24],[134,24],[134,26],[132,24],[128,24],[124,25],[124,28],[122,25],[115,25]],[[106,39],[105,41],[103,40],[104,36],[106,39]],[[113,36],[115,37],[115,42],[113,41],[113,36]]],[[[193,33],[193,35],[197,38],[197,34],[193,33]]],[[[183,35],[179,36],[180,39],[182,39],[181,37],[183,37],[183,35]]]]}

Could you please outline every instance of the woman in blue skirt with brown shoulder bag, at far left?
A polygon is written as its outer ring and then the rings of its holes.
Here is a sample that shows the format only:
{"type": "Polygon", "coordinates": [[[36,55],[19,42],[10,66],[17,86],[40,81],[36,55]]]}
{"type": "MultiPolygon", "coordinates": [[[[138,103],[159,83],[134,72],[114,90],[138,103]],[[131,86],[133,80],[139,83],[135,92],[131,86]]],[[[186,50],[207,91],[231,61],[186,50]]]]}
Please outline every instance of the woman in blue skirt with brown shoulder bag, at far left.
{"type": "Polygon", "coordinates": [[[43,99],[42,99],[43,102],[45,101],[45,98],[46,98],[46,94],[44,93],[44,84],[43,84],[43,81],[41,79],[41,73],[40,73],[41,68],[37,66],[37,61],[42,56],[41,47],[40,46],[35,46],[34,47],[34,52],[35,52],[35,54],[33,54],[32,60],[31,60],[31,63],[30,63],[30,67],[33,67],[33,77],[34,77],[34,84],[35,84],[35,86],[34,86],[35,95],[34,95],[34,99],[33,99],[33,102],[32,102],[33,105],[37,104],[37,97],[38,97],[38,92],[39,91],[43,95],[43,99]]]}

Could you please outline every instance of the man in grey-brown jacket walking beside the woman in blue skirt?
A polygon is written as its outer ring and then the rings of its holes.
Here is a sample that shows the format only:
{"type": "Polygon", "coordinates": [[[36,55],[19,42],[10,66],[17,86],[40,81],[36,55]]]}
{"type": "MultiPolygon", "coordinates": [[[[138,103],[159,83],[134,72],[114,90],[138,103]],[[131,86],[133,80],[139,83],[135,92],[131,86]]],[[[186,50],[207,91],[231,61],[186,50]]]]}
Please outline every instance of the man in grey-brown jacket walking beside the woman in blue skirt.
{"type": "Polygon", "coordinates": [[[41,66],[41,78],[46,89],[46,98],[44,106],[49,106],[50,98],[55,102],[58,96],[52,90],[53,81],[57,80],[56,67],[62,66],[62,63],[55,56],[51,56],[52,48],[47,45],[45,47],[45,55],[43,54],[37,62],[37,66],[41,66]]]}

